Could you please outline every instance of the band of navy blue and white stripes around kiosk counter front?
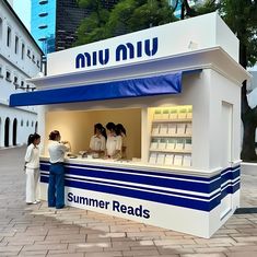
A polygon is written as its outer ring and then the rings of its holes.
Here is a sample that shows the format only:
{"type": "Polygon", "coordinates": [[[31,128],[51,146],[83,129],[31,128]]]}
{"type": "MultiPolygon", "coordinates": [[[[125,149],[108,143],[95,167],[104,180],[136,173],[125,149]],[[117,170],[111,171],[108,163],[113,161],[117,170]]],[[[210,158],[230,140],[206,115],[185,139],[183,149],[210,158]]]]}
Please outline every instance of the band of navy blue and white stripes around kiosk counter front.
{"type": "MultiPolygon", "coordinates": [[[[42,183],[48,183],[49,163],[40,162],[42,183]]],[[[240,189],[240,166],[210,178],[66,164],[66,186],[131,197],[201,211],[211,211],[229,194],[240,189]],[[116,171],[117,170],[117,171],[116,171]]]]}

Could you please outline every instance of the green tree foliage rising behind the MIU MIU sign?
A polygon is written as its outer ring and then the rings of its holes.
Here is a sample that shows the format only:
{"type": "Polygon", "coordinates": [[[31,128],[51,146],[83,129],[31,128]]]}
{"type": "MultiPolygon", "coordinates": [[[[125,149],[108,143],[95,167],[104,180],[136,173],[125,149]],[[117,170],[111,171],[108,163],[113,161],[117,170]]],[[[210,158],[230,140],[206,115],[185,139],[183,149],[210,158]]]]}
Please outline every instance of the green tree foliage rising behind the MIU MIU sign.
{"type": "Polygon", "coordinates": [[[80,7],[92,14],[85,17],[79,30],[75,45],[92,43],[151,26],[175,21],[166,0],[121,0],[112,12],[103,8],[101,0],[78,0],[80,7]]]}

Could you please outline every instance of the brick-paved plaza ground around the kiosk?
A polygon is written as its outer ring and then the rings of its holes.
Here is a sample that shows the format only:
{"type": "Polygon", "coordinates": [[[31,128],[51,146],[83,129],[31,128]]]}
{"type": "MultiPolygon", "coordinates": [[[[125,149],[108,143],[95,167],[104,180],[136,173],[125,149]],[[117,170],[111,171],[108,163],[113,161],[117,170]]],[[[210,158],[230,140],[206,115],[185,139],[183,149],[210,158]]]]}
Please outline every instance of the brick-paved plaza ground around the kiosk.
{"type": "MultiPolygon", "coordinates": [[[[257,256],[257,213],[234,214],[205,240],[75,208],[27,206],[24,152],[24,148],[0,150],[1,257],[257,256]]],[[[242,201],[257,207],[257,178],[242,176],[242,201]]]]}

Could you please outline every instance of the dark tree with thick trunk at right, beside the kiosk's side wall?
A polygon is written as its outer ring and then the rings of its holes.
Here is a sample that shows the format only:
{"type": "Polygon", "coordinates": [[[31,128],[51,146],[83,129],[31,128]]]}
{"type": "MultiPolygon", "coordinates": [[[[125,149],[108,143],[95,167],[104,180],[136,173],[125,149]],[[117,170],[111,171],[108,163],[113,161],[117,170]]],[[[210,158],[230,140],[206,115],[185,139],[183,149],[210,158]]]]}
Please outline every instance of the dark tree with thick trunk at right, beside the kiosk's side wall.
{"type": "MultiPolygon", "coordinates": [[[[240,63],[246,67],[257,61],[257,1],[223,0],[220,13],[230,28],[240,39],[240,63]]],[[[250,108],[247,101],[246,81],[242,86],[242,113],[244,126],[243,148],[241,157],[244,161],[256,161],[255,131],[257,127],[257,106],[250,108]]]]}

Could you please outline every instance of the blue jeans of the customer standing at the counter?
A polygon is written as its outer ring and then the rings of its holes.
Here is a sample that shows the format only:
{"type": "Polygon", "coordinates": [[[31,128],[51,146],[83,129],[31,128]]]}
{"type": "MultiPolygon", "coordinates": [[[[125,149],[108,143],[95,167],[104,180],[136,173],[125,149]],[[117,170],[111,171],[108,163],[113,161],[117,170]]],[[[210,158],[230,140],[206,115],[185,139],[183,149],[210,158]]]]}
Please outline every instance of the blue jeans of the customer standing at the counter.
{"type": "Polygon", "coordinates": [[[48,185],[48,207],[65,207],[65,167],[62,163],[50,165],[48,185]]]}

